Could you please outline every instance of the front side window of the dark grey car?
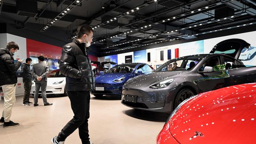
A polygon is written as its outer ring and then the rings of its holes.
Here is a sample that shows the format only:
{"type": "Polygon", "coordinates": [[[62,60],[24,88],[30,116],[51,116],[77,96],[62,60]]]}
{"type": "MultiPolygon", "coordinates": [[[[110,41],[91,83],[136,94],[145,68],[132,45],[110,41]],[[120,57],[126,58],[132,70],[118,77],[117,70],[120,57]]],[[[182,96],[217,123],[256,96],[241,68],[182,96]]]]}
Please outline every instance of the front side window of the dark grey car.
{"type": "Polygon", "coordinates": [[[199,72],[203,72],[206,66],[212,67],[214,71],[224,70],[225,68],[225,66],[220,63],[219,56],[213,56],[207,59],[199,69],[199,72]]]}

